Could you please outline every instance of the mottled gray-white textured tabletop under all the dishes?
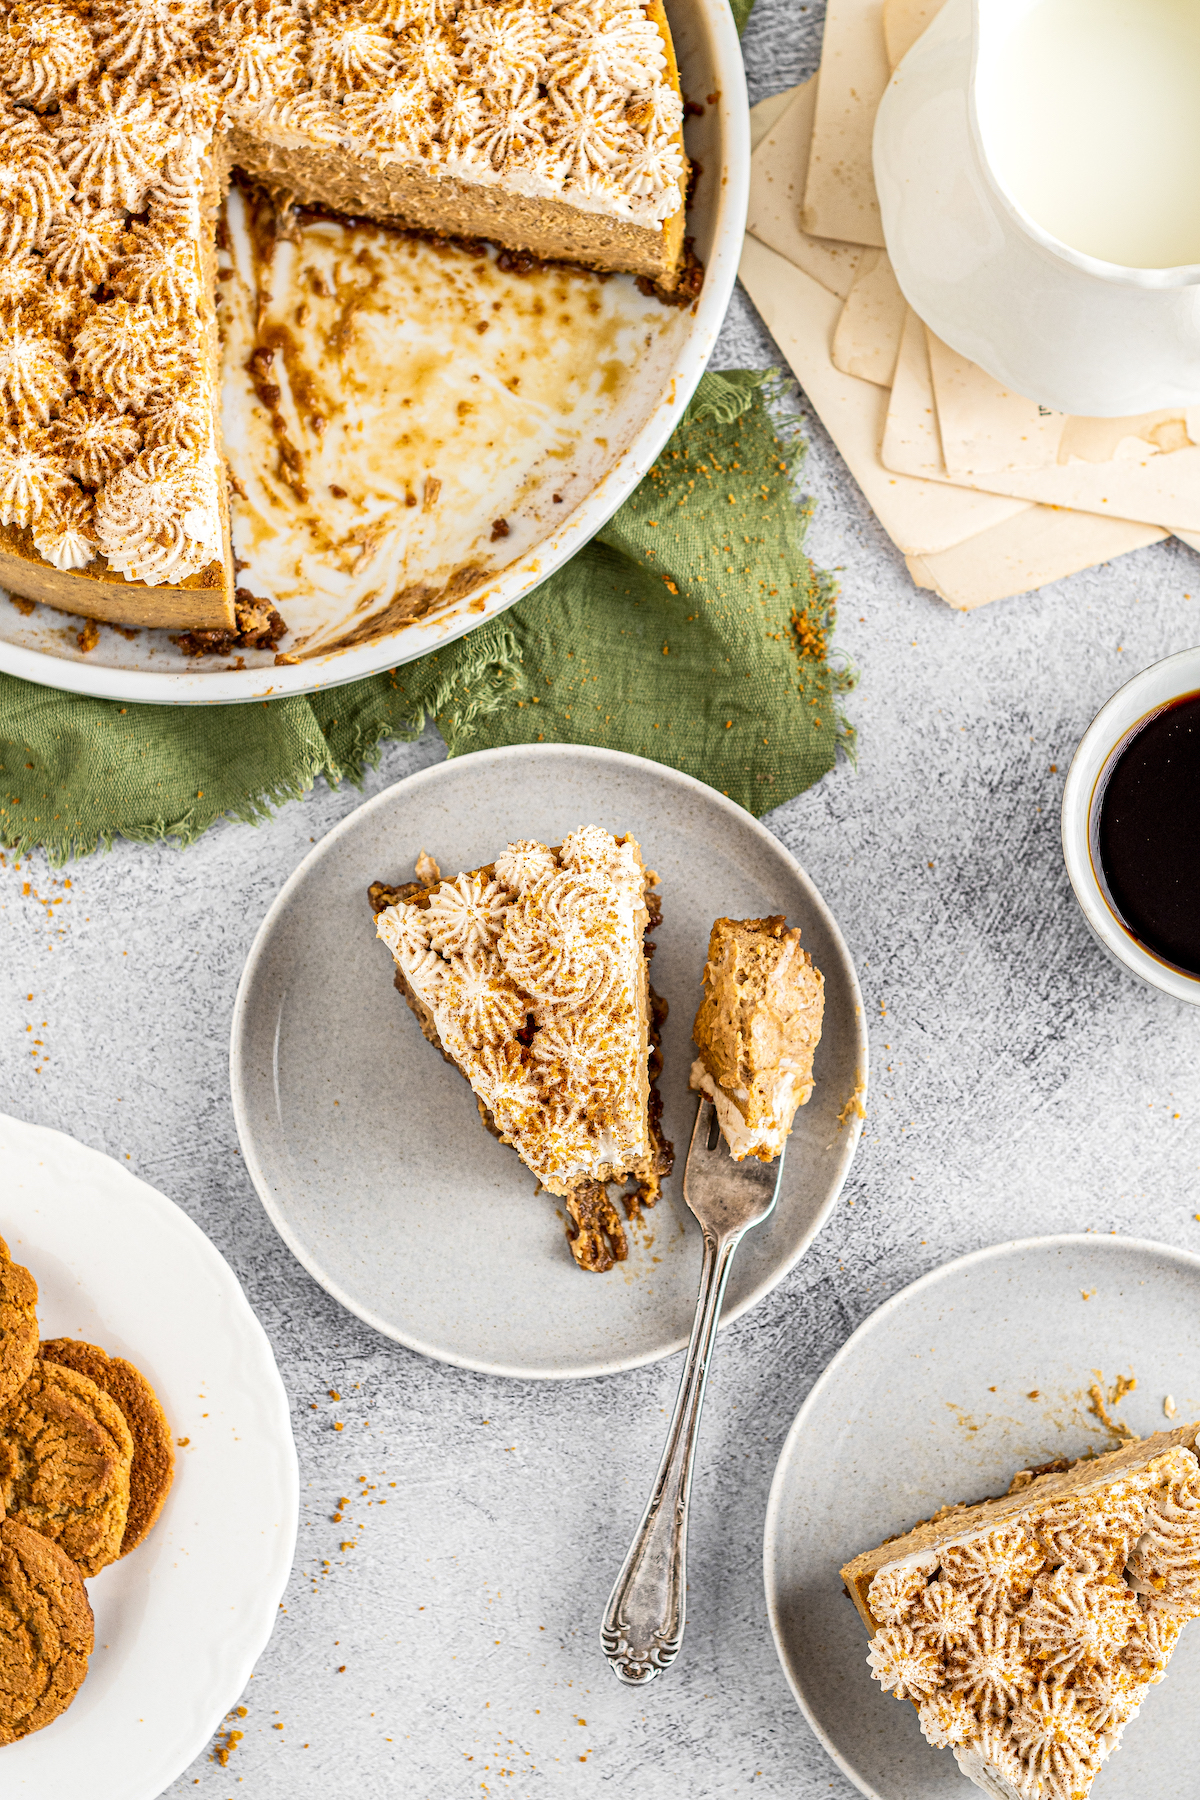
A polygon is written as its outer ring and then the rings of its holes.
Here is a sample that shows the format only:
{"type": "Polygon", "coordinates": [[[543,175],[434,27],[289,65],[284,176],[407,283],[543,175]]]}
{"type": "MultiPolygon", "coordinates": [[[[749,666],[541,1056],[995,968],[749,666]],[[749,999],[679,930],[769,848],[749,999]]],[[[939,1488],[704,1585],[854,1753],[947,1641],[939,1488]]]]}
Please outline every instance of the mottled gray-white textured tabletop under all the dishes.
{"type": "MultiPolygon", "coordinates": [[[[817,5],[763,0],[752,97],[815,67],[819,29],[817,5]]],[[[739,301],[718,362],[768,360],[739,301]]],[[[1200,637],[1200,562],[1168,542],[968,617],[912,589],[820,427],[806,479],[864,671],[862,760],[768,823],[858,958],[874,1089],[833,1222],[718,1345],[685,1649],[644,1694],[615,1685],[596,1627],[678,1361],[561,1390],[425,1363],[308,1280],[239,1166],[237,974],[281,882],[358,794],[322,787],[182,855],[121,844],[65,871],[70,889],[38,857],[0,869],[4,1103],[187,1208],[245,1282],[293,1400],[286,1613],[228,1766],[201,1759],[171,1800],[849,1795],[775,1663],[759,1568],[775,1456],[819,1370],[887,1292],[981,1244],[1094,1228],[1200,1246],[1200,1017],[1103,959],[1058,848],[1094,711],[1200,637]],[[360,1476],[369,1503],[335,1525],[360,1476]]],[[[396,745],[367,790],[441,754],[432,736],[396,745]]]]}

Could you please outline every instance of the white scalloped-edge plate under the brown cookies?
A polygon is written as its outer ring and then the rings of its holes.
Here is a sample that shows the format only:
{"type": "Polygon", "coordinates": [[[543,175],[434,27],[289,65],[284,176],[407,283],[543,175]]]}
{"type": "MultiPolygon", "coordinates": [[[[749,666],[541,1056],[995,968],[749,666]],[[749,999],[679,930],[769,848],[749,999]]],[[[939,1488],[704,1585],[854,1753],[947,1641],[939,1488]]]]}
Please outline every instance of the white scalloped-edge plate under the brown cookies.
{"type": "Polygon", "coordinates": [[[146,1372],[176,1440],[155,1530],[88,1582],[74,1705],[0,1750],[5,1800],[157,1800],[205,1748],[272,1634],[299,1472],[288,1395],[234,1271],[112,1157],[0,1116],[0,1237],[38,1280],[43,1337],[146,1372]]]}

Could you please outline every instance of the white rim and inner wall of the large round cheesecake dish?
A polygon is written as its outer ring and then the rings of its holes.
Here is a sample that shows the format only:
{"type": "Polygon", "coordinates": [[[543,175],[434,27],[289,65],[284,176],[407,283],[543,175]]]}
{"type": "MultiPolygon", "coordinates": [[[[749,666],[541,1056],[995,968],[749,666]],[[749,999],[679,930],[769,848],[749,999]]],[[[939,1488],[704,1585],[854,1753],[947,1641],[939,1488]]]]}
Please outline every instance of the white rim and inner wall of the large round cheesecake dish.
{"type": "MultiPolygon", "coordinates": [[[[667,13],[684,94],[703,104],[703,113],[687,121],[685,137],[689,153],[702,166],[687,230],[694,234],[696,254],[705,265],[705,281],[693,308],[666,310],[648,302],[664,313],[653,353],[631,364],[626,358],[628,378],[613,387],[608,410],[601,409],[596,419],[588,414],[588,441],[603,448],[599,454],[592,450],[592,461],[578,482],[578,500],[574,491],[565,497],[567,517],[561,522],[551,522],[547,517],[545,529],[531,527],[524,540],[515,542],[516,556],[507,567],[444,610],[389,635],[331,653],[315,653],[300,662],[277,666],[272,653],[250,652],[239,659],[246,666],[236,668],[232,657],[189,659],[171,643],[167,632],[144,630],[128,639],[104,628],[101,643],[85,653],[77,643],[81,619],[47,607],[25,616],[0,599],[0,670],[74,693],[157,704],[207,706],[309,693],[396,668],[462,637],[473,626],[504,612],[574,556],[628,499],[678,425],[716,344],[738,274],[750,178],[750,126],[741,45],[727,0],[671,0],[667,13]],[[630,369],[635,373],[630,374],[630,369]]],[[[612,279],[630,283],[630,277],[612,279]]],[[[236,374],[230,380],[227,364],[223,416],[234,463],[239,409],[245,434],[252,437],[254,427],[248,421],[252,398],[252,389],[245,382],[239,383],[236,374]]],[[[520,486],[518,470],[513,473],[511,488],[520,491],[520,486]]],[[[245,554],[237,536],[236,518],[234,547],[245,554]]],[[[246,585],[259,594],[270,594],[270,587],[255,578],[254,551],[248,563],[246,585]]],[[[320,589],[318,578],[315,585],[320,589]]],[[[338,583],[331,580],[327,587],[329,607],[336,605],[351,617],[353,608],[345,607],[338,583]]],[[[286,617],[288,607],[282,610],[286,617]]]]}

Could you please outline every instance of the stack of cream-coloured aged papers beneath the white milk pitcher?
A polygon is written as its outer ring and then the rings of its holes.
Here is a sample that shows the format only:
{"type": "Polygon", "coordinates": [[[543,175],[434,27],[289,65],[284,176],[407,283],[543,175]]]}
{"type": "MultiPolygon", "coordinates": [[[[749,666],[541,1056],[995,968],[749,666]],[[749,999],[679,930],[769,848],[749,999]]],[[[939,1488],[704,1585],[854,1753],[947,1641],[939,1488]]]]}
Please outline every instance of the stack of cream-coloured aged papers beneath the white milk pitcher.
{"type": "Polygon", "coordinates": [[[1200,407],[1076,419],[936,338],[892,275],[874,113],[941,0],[829,0],[820,70],[754,108],[741,281],[918,587],[1024,594],[1159,538],[1200,549],[1200,407]]]}

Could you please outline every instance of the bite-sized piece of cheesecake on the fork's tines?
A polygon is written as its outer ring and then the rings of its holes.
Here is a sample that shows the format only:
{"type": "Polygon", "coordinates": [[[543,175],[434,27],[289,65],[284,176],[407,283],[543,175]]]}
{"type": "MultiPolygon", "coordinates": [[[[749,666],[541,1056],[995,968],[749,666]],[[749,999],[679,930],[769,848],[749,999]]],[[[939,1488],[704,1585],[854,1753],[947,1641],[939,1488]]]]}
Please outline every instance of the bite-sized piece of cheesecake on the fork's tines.
{"type": "Polygon", "coordinates": [[[718,918],[693,1026],[691,1085],[716,1105],[734,1161],[774,1163],[813,1091],[824,976],[783,916],[718,918]]]}

